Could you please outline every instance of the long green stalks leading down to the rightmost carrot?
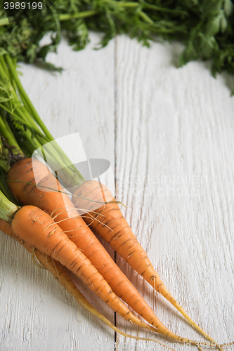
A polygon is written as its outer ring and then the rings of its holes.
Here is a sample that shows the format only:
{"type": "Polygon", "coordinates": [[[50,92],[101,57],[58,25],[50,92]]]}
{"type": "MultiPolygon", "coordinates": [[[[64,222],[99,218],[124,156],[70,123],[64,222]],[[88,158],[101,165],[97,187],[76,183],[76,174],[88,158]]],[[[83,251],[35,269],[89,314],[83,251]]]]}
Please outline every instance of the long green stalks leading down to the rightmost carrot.
{"type": "MultiPolygon", "coordinates": [[[[37,114],[37,111],[34,109],[34,106],[32,105],[32,102],[27,96],[24,88],[22,88],[22,84],[18,78],[13,60],[9,55],[5,55],[5,59],[7,65],[4,60],[4,55],[0,57],[0,76],[4,80],[7,91],[11,93],[12,98],[9,101],[0,103],[0,107],[4,108],[4,110],[11,115],[15,122],[20,122],[20,124],[23,124],[20,126],[20,137],[23,135],[25,140],[27,140],[26,150],[29,152],[29,154],[32,154],[34,150],[39,149],[41,146],[53,141],[54,139],[48,132],[44,123],[41,121],[39,114],[37,114]],[[18,98],[17,91],[15,90],[16,87],[20,98],[22,99],[23,105],[18,98]],[[24,126],[27,128],[25,129],[24,126]],[[39,129],[39,127],[41,129],[39,129]]],[[[0,131],[3,135],[9,138],[9,135],[7,135],[7,131],[9,131],[8,124],[4,126],[4,123],[0,123],[0,131]]],[[[13,140],[13,144],[14,142],[15,140],[13,140]]],[[[70,165],[70,159],[57,143],[53,143],[53,145],[49,144],[48,150],[48,159],[45,161],[47,161],[52,167],[55,166],[56,168],[65,168],[63,174],[60,176],[62,177],[63,183],[66,186],[70,187],[73,185],[73,183],[84,183],[84,177],[79,173],[79,171],[77,171],[77,168],[75,168],[74,165],[70,165]]]]}

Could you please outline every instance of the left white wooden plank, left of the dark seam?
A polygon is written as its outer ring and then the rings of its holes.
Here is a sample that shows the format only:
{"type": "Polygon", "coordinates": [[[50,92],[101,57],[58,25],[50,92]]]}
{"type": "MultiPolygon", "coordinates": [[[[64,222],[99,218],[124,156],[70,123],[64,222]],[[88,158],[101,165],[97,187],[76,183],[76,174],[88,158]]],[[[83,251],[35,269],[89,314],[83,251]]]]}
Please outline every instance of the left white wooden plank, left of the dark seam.
{"type": "MultiPolygon", "coordinates": [[[[114,46],[100,51],[100,37],[79,53],[63,40],[48,60],[62,74],[21,65],[22,84],[55,138],[79,131],[87,157],[114,163],[114,46]],[[112,117],[112,118],[110,118],[112,117]]],[[[48,40],[48,39],[46,39],[48,40]]],[[[1,233],[2,351],[112,351],[114,332],[63,291],[59,282],[32,262],[29,253],[1,233]]],[[[94,307],[114,322],[114,312],[80,284],[94,307]]]]}

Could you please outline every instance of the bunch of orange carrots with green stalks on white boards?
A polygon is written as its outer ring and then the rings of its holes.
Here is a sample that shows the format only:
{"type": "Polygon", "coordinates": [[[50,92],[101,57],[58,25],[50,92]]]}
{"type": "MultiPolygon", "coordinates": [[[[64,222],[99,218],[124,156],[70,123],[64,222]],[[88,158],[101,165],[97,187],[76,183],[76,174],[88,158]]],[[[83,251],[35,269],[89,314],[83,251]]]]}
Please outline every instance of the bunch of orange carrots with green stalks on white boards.
{"type": "MultiPolygon", "coordinates": [[[[52,141],[53,137],[27,98],[15,71],[15,62],[8,55],[0,58],[0,73],[5,89],[0,100],[0,189],[8,197],[6,199],[1,193],[0,218],[11,223],[14,233],[11,236],[15,235],[27,247],[36,249],[37,257],[43,258],[44,263],[49,256],[51,260],[67,267],[124,319],[149,331],[200,347],[193,340],[176,336],[157,319],[93,234],[98,233],[141,277],[169,300],[202,336],[223,350],[222,345],[218,345],[195,324],[171,296],[107,187],[93,180],[85,181],[73,166],[65,168],[63,184],[67,187],[74,181],[77,184],[71,201],[45,164],[36,159],[32,163],[32,152],[52,141]],[[119,298],[148,324],[130,312],[119,298]]],[[[66,159],[63,150],[53,144],[49,161],[63,166],[66,159]]],[[[5,222],[0,223],[0,229],[6,234],[10,232],[9,228],[8,225],[6,230],[5,222]]],[[[51,260],[49,262],[53,262],[51,260]]],[[[54,273],[53,265],[47,266],[54,273]]],[[[67,289],[72,291],[70,286],[67,289]]],[[[108,323],[106,320],[104,322],[108,323]]]]}

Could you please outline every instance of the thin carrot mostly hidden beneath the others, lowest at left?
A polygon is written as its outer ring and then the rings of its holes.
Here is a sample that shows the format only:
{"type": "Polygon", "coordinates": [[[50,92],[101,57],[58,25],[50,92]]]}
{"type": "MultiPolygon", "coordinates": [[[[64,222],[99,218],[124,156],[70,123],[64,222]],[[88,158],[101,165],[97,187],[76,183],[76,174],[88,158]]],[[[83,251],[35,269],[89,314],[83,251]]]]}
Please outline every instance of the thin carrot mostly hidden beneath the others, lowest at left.
{"type": "MultiPolygon", "coordinates": [[[[30,248],[24,241],[19,239],[18,237],[15,236],[15,233],[12,230],[12,227],[10,223],[6,222],[6,220],[2,220],[0,218],[0,230],[7,234],[9,237],[12,237],[13,239],[17,240],[22,244],[22,246],[25,246],[25,249],[29,252],[31,252],[32,248],[30,248]]],[[[160,341],[151,339],[151,338],[141,338],[138,336],[131,336],[129,334],[124,333],[123,331],[120,331],[114,324],[112,324],[106,317],[103,316],[96,308],[94,308],[88,300],[82,295],[82,293],[77,289],[77,286],[72,282],[72,279],[70,276],[65,272],[63,267],[56,261],[53,260],[50,256],[44,255],[44,253],[41,253],[39,250],[34,250],[34,256],[37,257],[37,260],[39,263],[41,263],[47,270],[49,270],[52,274],[53,277],[55,277],[60,284],[62,284],[67,291],[70,292],[70,294],[74,297],[75,300],[77,300],[78,303],[80,303],[86,310],[91,312],[94,316],[98,317],[100,321],[105,323],[107,326],[110,326],[111,329],[113,329],[116,333],[126,337],[126,338],[134,338],[136,340],[146,340],[146,341],[152,341],[154,343],[158,343],[164,347],[167,347],[169,350],[174,351],[171,347],[168,347],[167,345],[160,343],[160,341]]]]}

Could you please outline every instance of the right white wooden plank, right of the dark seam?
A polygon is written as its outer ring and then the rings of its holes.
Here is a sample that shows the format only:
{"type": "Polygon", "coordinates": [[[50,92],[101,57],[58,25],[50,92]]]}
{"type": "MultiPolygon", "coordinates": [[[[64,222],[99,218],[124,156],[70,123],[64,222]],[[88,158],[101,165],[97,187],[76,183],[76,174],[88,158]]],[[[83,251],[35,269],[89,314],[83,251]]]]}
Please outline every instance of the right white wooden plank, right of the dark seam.
{"type": "MultiPolygon", "coordinates": [[[[233,79],[215,80],[202,62],[176,69],[182,49],[117,38],[117,199],[128,206],[126,219],[172,295],[226,343],[234,338],[233,79]]],[[[117,263],[164,325],[202,339],[118,256],[117,263]]],[[[117,326],[136,334],[119,317],[117,326]]],[[[121,350],[164,348],[119,338],[121,350]]]]}

